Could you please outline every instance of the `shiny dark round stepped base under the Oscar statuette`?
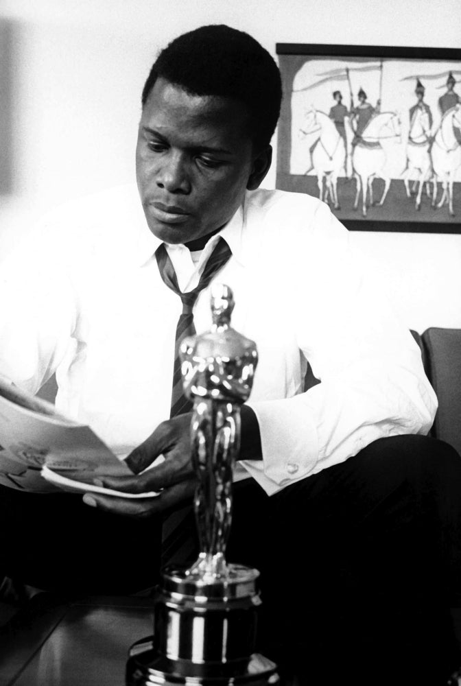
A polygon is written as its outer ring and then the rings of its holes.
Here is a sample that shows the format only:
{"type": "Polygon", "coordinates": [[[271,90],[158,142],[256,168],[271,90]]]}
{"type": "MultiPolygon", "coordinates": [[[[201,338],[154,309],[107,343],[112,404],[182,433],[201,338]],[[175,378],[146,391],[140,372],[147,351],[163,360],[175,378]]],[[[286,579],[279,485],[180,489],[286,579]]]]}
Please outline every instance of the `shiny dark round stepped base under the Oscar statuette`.
{"type": "Polygon", "coordinates": [[[154,635],[130,648],[126,685],[278,684],[276,665],[255,652],[256,569],[227,565],[225,578],[166,569],[154,635]]]}

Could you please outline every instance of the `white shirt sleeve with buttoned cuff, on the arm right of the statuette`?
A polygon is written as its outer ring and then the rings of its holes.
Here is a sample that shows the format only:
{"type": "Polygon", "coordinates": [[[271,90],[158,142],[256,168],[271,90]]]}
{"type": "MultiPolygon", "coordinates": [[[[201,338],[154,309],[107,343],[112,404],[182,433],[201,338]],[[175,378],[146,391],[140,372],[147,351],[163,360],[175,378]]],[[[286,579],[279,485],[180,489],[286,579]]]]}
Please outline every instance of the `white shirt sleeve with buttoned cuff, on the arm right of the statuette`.
{"type": "Polygon", "coordinates": [[[418,345],[352,250],[348,231],[324,204],[310,228],[299,246],[311,259],[294,283],[296,331],[321,383],[291,398],[248,403],[263,460],[244,465],[269,494],[378,438],[427,434],[437,407],[418,345]]]}

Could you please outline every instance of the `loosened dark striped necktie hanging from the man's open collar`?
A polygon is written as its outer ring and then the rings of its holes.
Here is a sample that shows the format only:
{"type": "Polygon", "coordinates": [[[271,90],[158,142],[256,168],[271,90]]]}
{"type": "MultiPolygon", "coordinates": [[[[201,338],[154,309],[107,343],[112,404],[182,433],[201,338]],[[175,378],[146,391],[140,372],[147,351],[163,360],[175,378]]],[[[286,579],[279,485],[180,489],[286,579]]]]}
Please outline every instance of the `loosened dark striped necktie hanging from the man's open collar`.
{"type": "MultiPolygon", "coordinates": [[[[176,272],[174,271],[171,259],[169,259],[165,244],[162,243],[155,251],[158,270],[165,285],[178,294],[182,302],[182,312],[176,326],[170,418],[176,417],[178,414],[191,412],[193,409],[193,402],[185,396],[182,388],[180,344],[186,336],[196,334],[196,327],[193,323],[193,306],[196,303],[198,294],[209,285],[213,276],[224,267],[231,255],[231,248],[229,248],[224,238],[220,237],[206,262],[196,288],[187,293],[182,293],[179,289],[176,272]]],[[[191,507],[187,506],[186,508],[176,510],[163,521],[162,566],[176,562],[185,563],[187,557],[193,551],[195,521],[193,517],[187,517],[189,512],[191,512],[191,507]]]]}

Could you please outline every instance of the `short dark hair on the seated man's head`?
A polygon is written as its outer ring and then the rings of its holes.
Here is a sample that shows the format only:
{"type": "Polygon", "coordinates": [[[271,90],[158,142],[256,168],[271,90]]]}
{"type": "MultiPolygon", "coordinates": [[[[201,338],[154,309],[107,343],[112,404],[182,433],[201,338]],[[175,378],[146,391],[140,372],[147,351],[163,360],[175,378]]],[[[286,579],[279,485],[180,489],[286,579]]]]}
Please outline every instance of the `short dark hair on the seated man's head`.
{"type": "Polygon", "coordinates": [[[161,51],[143,88],[147,98],[158,78],[191,95],[218,95],[243,102],[257,149],[270,143],[279,119],[282,84],[274,59],[255,38],[226,25],[202,26],[178,36],[161,51]]]}

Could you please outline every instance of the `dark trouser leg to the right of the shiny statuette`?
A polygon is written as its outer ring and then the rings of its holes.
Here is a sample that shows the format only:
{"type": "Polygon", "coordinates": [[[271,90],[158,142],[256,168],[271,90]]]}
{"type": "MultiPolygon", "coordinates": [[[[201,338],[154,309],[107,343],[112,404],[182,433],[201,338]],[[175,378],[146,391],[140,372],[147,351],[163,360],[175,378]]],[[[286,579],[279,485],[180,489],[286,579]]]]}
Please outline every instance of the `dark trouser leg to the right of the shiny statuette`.
{"type": "Polygon", "coordinates": [[[306,686],[447,683],[461,665],[454,449],[386,438],[270,498],[254,482],[240,490],[228,559],[261,571],[259,648],[285,675],[306,686]]]}

